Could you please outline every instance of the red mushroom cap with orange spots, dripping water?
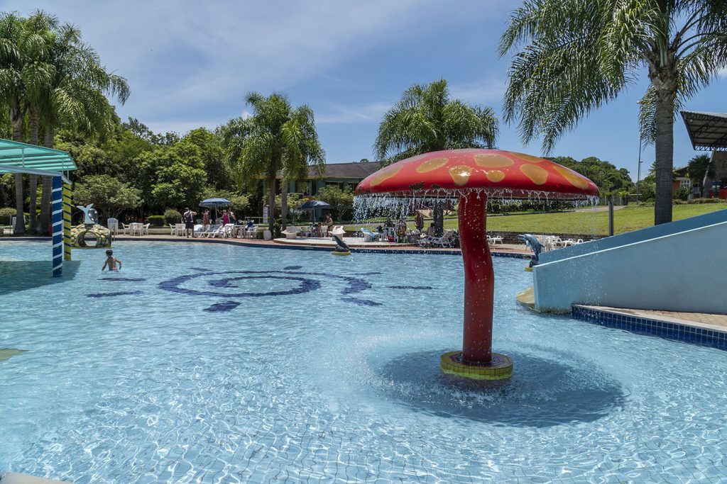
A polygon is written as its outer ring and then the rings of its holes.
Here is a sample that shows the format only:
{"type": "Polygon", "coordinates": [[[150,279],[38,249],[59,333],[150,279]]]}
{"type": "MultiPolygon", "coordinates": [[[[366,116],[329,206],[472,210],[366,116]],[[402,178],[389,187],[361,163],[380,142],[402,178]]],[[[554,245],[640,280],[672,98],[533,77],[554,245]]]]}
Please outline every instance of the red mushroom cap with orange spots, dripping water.
{"type": "Polygon", "coordinates": [[[570,168],[502,149],[448,149],[393,163],[367,176],[356,194],[446,196],[478,190],[506,198],[542,193],[558,200],[598,195],[598,186],[570,168]]]}

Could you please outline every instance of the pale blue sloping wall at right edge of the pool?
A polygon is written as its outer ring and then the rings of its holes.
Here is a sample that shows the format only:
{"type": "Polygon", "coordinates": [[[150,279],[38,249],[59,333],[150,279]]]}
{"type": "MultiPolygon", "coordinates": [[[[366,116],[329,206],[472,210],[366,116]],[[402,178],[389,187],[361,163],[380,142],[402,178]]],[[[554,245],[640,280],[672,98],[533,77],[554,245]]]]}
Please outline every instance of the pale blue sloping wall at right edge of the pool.
{"type": "Polygon", "coordinates": [[[571,304],[589,304],[725,314],[726,240],[724,221],[541,264],[533,271],[535,307],[564,312],[571,304]]]}

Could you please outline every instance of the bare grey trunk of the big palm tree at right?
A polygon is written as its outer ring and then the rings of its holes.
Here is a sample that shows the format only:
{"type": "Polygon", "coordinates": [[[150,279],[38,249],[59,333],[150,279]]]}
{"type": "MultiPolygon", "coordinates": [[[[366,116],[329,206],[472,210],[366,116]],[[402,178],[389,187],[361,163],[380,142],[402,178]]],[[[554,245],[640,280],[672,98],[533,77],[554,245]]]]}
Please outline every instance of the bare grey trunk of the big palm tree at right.
{"type": "Polygon", "coordinates": [[[674,97],[656,99],[656,203],[654,225],[672,221],[672,172],[674,166],[674,97]]]}

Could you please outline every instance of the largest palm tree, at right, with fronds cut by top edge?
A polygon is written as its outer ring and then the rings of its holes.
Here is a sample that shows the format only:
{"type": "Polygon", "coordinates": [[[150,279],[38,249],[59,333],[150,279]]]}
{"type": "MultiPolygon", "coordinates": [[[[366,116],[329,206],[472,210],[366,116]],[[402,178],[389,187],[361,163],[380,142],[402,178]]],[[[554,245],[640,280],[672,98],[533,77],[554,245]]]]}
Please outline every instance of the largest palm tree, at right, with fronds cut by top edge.
{"type": "Polygon", "coordinates": [[[548,152],[646,67],[640,128],[656,144],[654,223],[671,221],[674,116],[727,65],[726,30],[723,0],[526,0],[499,46],[516,51],[505,120],[518,119],[526,142],[542,136],[548,152]]]}

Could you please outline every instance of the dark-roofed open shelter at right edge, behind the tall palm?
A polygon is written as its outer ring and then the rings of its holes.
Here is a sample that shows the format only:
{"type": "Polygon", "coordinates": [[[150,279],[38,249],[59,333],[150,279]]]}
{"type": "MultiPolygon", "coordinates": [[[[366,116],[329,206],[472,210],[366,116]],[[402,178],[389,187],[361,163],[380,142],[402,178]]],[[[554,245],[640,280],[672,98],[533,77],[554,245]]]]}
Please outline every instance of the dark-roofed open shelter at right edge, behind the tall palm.
{"type": "Polygon", "coordinates": [[[715,197],[727,198],[727,112],[682,111],[681,115],[691,146],[712,152],[715,178],[705,177],[702,196],[711,192],[715,197]]]}

